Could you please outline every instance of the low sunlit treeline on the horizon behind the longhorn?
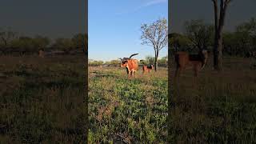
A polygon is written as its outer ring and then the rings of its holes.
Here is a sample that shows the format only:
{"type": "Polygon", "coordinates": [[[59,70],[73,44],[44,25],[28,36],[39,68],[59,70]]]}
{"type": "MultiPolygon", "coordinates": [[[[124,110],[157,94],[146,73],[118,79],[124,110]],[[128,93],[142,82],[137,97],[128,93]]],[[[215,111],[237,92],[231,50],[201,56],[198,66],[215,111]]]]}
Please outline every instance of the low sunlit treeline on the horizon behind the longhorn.
{"type": "MultiPolygon", "coordinates": [[[[121,61],[120,60],[111,60],[108,62],[103,61],[95,61],[93,59],[89,60],[89,66],[120,66],[121,61]]],[[[146,56],[145,59],[142,59],[139,61],[139,65],[150,65],[154,64],[154,57],[152,56],[146,56]]],[[[161,67],[167,67],[168,66],[168,57],[162,57],[158,59],[158,66],[161,67]]]]}

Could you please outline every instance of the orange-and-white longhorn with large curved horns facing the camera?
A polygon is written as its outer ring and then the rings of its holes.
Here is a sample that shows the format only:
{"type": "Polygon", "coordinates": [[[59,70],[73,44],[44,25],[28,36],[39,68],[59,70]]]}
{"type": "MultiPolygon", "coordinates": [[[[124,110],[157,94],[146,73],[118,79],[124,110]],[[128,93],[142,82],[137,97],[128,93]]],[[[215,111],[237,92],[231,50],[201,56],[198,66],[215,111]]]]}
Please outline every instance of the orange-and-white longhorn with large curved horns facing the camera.
{"type": "Polygon", "coordinates": [[[119,58],[122,61],[121,67],[126,67],[128,78],[132,77],[133,74],[135,78],[136,70],[138,70],[138,60],[132,58],[134,55],[137,54],[131,54],[130,58],[119,58]]]}

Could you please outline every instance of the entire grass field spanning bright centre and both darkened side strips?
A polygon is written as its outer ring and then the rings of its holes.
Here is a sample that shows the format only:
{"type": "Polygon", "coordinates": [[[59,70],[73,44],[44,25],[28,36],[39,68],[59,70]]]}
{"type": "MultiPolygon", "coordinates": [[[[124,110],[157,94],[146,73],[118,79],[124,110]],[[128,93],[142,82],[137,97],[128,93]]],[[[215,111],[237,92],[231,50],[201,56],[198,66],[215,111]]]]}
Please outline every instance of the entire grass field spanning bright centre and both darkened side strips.
{"type": "MultiPolygon", "coordinates": [[[[0,143],[84,142],[84,62],[1,57],[0,143]]],[[[187,70],[170,87],[170,119],[167,69],[127,79],[120,67],[89,67],[89,142],[255,143],[255,63],[225,58],[219,73],[209,61],[198,83],[187,70]]]]}

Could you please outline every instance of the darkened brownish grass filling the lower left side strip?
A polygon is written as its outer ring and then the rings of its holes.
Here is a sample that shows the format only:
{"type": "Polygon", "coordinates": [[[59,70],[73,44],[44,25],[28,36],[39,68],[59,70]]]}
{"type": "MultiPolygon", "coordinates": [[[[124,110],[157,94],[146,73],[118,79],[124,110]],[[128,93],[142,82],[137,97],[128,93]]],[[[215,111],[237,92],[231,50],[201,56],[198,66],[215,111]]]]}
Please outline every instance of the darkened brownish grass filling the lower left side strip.
{"type": "Polygon", "coordinates": [[[84,58],[0,58],[0,143],[85,138],[84,58]]]}

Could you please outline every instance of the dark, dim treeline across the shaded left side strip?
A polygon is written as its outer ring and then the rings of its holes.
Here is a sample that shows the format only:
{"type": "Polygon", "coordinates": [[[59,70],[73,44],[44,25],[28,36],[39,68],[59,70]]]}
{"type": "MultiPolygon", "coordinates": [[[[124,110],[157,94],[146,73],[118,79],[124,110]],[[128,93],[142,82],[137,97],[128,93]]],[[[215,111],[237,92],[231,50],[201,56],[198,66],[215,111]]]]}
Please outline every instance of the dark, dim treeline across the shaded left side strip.
{"type": "Polygon", "coordinates": [[[12,30],[0,28],[0,54],[38,54],[39,50],[61,50],[69,54],[72,50],[85,52],[86,34],[75,34],[72,38],[56,38],[51,40],[44,36],[28,37],[12,30]]]}

